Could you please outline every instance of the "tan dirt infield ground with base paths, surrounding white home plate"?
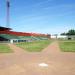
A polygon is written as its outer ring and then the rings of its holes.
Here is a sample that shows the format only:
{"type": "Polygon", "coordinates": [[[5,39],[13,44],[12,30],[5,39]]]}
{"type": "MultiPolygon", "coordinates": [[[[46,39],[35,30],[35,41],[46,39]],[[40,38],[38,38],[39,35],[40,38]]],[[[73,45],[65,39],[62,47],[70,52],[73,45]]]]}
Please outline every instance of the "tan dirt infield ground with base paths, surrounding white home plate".
{"type": "Polygon", "coordinates": [[[60,52],[57,41],[34,53],[9,46],[14,53],[0,54],[0,75],[75,75],[75,53],[60,52]],[[40,63],[48,67],[41,67],[40,63]]]}

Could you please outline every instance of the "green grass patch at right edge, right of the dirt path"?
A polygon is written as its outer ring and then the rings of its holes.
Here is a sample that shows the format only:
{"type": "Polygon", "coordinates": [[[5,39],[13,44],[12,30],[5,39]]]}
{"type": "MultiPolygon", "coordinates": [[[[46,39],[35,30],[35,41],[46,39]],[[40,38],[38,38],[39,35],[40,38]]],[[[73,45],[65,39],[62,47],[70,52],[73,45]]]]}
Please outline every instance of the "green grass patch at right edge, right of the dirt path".
{"type": "Polygon", "coordinates": [[[60,49],[63,52],[75,52],[75,40],[59,42],[60,49]]]}

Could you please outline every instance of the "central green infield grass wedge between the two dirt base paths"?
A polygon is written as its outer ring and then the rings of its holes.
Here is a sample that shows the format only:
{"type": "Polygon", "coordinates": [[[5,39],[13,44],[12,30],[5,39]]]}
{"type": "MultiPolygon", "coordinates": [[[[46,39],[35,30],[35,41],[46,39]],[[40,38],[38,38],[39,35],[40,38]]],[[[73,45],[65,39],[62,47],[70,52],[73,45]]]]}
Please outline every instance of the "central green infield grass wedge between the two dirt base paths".
{"type": "Polygon", "coordinates": [[[18,43],[16,45],[29,52],[40,52],[45,47],[47,47],[50,43],[51,43],[50,40],[42,40],[42,41],[35,41],[35,42],[18,43]]]}

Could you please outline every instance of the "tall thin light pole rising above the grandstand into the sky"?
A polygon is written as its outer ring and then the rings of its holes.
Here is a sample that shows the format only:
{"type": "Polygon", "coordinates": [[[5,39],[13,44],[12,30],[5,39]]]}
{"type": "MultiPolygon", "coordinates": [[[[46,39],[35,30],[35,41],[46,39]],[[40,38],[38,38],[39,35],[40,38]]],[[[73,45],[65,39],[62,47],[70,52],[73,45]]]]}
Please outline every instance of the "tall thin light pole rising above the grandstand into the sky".
{"type": "Polygon", "coordinates": [[[6,0],[6,27],[10,26],[10,1],[6,0]]]}

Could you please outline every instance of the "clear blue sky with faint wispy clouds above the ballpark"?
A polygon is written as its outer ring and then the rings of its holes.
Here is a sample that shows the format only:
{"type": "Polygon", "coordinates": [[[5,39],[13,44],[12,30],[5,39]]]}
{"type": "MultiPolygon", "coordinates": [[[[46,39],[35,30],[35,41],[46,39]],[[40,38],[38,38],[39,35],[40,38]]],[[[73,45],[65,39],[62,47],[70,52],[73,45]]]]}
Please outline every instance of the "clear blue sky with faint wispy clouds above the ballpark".
{"type": "MultiPolygon", "coordinates": [[[[0,0],[0,26],[6,26],[6,0],[0,0]]],[[[75,0],[10,0],[10,28],[45,34],[75,29],[75,0]]]]}

